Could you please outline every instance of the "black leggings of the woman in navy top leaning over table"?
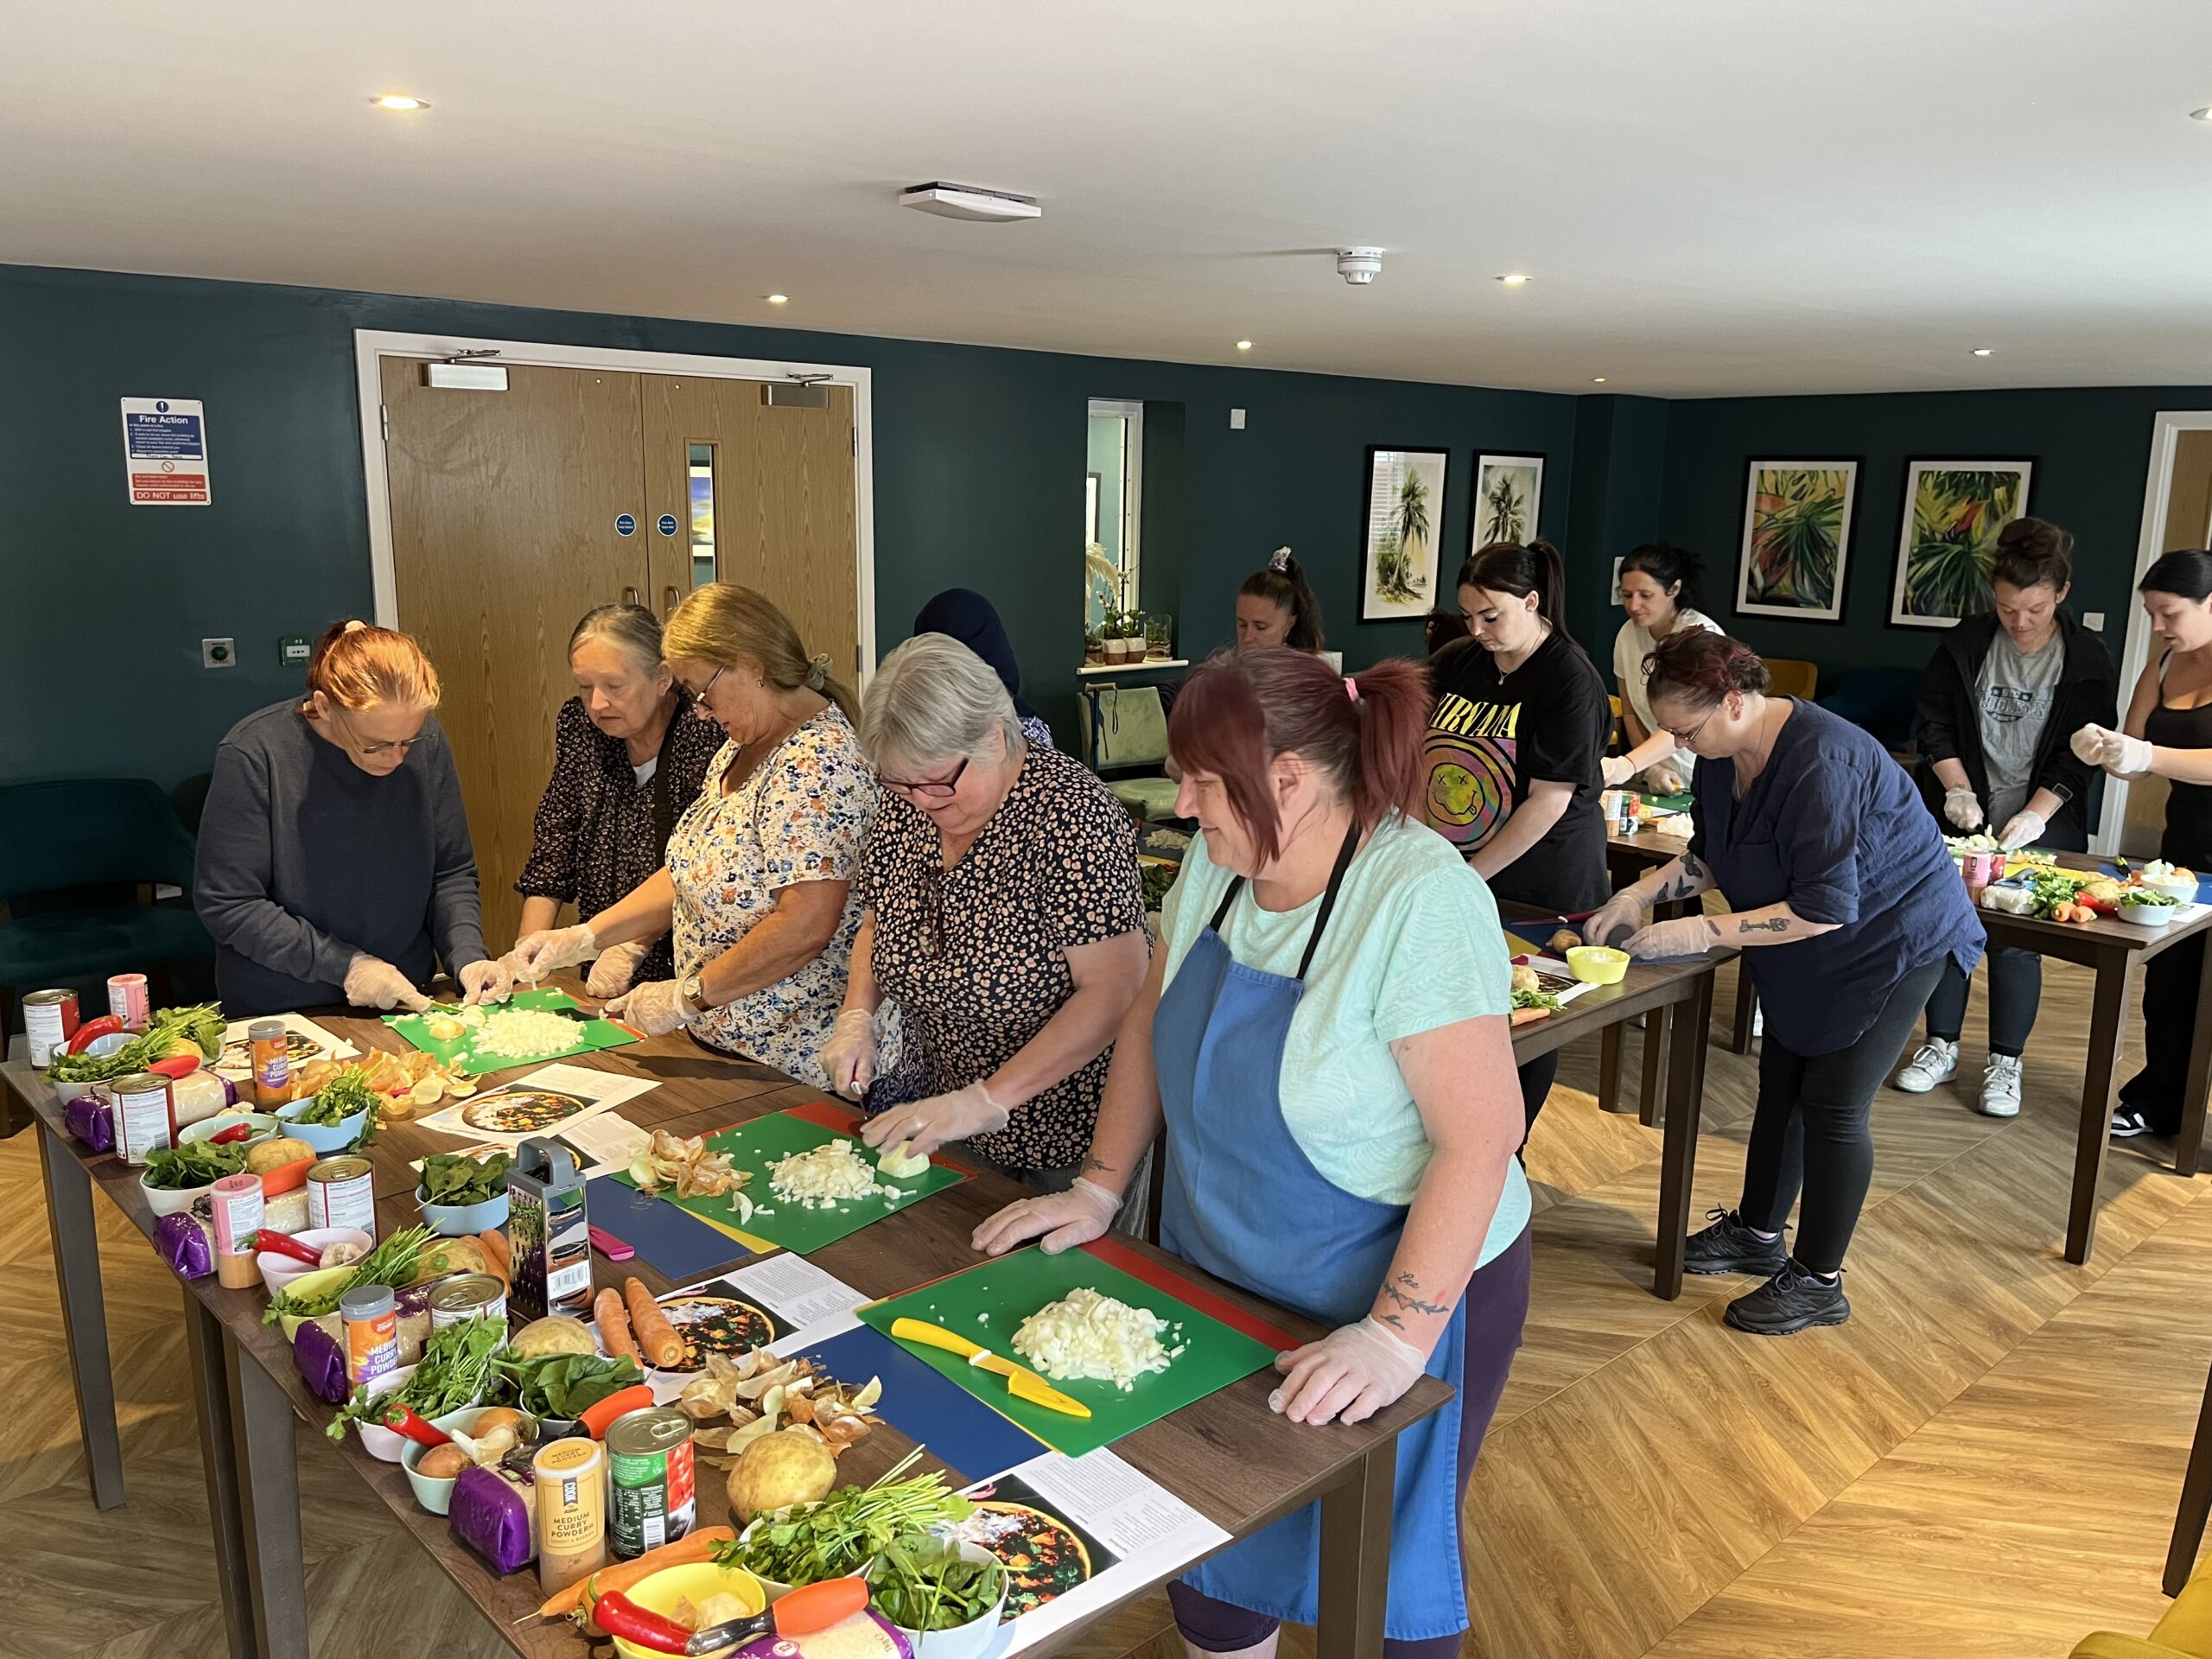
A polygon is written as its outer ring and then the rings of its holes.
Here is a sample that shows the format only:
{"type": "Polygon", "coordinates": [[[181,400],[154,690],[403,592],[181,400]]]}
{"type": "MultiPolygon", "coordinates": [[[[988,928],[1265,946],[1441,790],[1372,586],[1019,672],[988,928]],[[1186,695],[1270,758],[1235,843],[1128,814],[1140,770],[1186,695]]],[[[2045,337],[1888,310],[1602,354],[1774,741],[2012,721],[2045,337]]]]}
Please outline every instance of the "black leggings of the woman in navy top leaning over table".
{"type": "Polygon", "coordinates": [[[1805,1210],[1798,1214],[1796,1250],[1790,1252],[1801,1267],[1816,1274],[1843,1267],[1874,1179],[1874,1128],[1867,1121],[1874,1091],[1898,1064],[1913,1020],[1940,978],[1942,962],[1907,973],[1865,1035],[1836,1053],[1792,1053],[1767,1026],[1759,1051],[1752,1144],[1743,1159],[1741,1214],[1745,1225],[1781,1232],[1803,1186],[1805,1210]]]}

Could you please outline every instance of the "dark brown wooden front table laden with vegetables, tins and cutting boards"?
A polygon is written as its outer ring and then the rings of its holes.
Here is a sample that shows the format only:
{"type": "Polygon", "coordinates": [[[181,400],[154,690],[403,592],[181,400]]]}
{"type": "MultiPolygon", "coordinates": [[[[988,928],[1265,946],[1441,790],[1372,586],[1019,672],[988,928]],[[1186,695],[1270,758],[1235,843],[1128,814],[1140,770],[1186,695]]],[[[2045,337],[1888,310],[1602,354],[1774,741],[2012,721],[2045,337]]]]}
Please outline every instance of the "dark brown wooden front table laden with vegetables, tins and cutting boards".
{"type": "MultiPolygon", "coordinates": [[[[1705,980],[1710,984],[1710,978],[1705,980]]],[[[1686,993],[1641,987],[1624,993],[1639,1006],[1666,1006],[1686,993]]],[[[1688,995],[1694,995],[1690,991],[1688,995]]],[[[361,1048],[400,1048],[400,1040],[376,1020],[316,1015],[327,1029],[361,1048]]],[[[1564,1040],[1564,1037],[1562,1037],[1564,1040]]],[[[115,1387],[108,1369],[106,1312],[100,1292],[100,1254],[93,1230],[91,1190],[97,1183],[144,1234],[155,1219],[146,1210],[137,1172],[115,1155],[93,1155],[64,1124],[53,1088],[29,1068],[18,1042],[0,1075],[38,1117],[44,1168],[46,1214],[60,1279],[62,1327],[69,1340],[77,1394],[77,1422],[91,1464],[93,1502],[113,1509],[124,1502],[122,1449],[115,1431],[115,1387]]],[[[1542,1053],[1542,1048],[1537,1048],[1542,1053]]],[[[787,1077],[728,1060],[686,1037],[657,1037],[626,1048],[582,1055],[568,1064],[653,1077],[659,1088],[626,1102],[619,1110],[646,1128],[699,1135],[734,1121],[818,1099],[787,1077]]],[[[1683,1077],[1683,1084],[1692,1084],[1683,1077]]],[[[1694,1104],[1683,1095],[1679,1115],[1694,1130],[1694,1104]]],[[[378,1225],[389,1232],[411,1225],[414,1172],[407,1164],[429,1150],[449,1150],[449,1137],[409,1124],[378,1135],[372,1157],[378,1183],[378,1225]]],[[[1681,1183],[1688,1192],[1688,1177],[1681,1183]]],[[[980,1175],[891,1214],[876,1225],[814,1252],[825,1272],[869,1296],[887,1296],[975,1261],[969,1234],[984,1217],[1020,1197],[1011,1183],[980,1175]]],[[[1666,1214],[1666,1201],[1661,1201],[1666,1214]]],[[[1677,1274],[1679,1274],[1679,1228],[1677,1274]]],[[[1130,1241],[1155,1256],[1164,1252],[1130,1241]]],[[[737,1245],[732,1243],[732,1250],[737,1245]]],[[[1661,1223],[1661,1254],[1666,1223],[1661,1223]]],[[[743,1254],[732,1256],[732,1265],[743,1254]]],[[[644,1259],[622,1265],[593,1256],[597,1283],[619,1283],[633,1270],[655,1292],[672,1285],[646,1267],[644,1259]]],[[[1232,1303],[1298,1336],[1321,1327],[1208,1279],[1188,1263],[1177,1272],[1232,1303]]],[[[212,1553],[223,1590],[223,1613],[234,1659],[292,1659],[307,1652],[307,1601],[301,1573],[299,1471],[294,1422],[321,1427],[334,1411],[316,1400],[292,1365],[283,1334],[261,1323],[268,1296],[261,1290],[221,1290],[212,1276],[181,1283],[192,1369],[192,1398],[206,1455],[208,1509],[215,1520],[212,1553]]],[[[1389,1573],[1391,1489],[1398,1433],[1427,1418],[1451,1398],[1451,1389],[1422,1378],[1394,1407],[1356,1427],[1285,1431],[1267,1409],[1272,1374],[1250,1376],[1137,1433],[1115,1442],[1115,1453],[1144,1471],[1232,1537],[1245,1537],[1303,1504],[1321,1500],[1321,1630],[1318,1650],[1378,1659],[1383,1652],[1383,1601],[1389,1573]]],[[[847,1453],[852,1480],[872,1480],[902,1458],[909,1440],[883,1425],[847,1453]]],[[[414,1502],[405,1473],[361,1451],[347,1436],[345,1462],[361,1475],[374,1500],[416,1537],[445,1575],[482,1610],[487,1624],[520,1655],[531,1659],[584,1659],[586,1644],[568,1626],[524,1621],[540,1601],[535,1573],[493,1577],[462,1548],[447,1522],[414,1502]]],[[[922,1467],[942,1467],[925,1460],[922,1467]]],[[[958,1471],[984,1478],[995,1469],[958,1471]]],[[[719,1475],[719,1471],[717,1471],[719,1475]]],[[[699,1524],[728,1520],[721,1480],[703,1480],[699,1524]]],[[[1097,1617],[1106,1617],[1152,1584],[1133,1584],[1128,1595],[1097,1617]]],[[[1051,1652],[1075,1644],[1086,1626],[1073,1626],[1040,1644],[1051,1652]]]]}

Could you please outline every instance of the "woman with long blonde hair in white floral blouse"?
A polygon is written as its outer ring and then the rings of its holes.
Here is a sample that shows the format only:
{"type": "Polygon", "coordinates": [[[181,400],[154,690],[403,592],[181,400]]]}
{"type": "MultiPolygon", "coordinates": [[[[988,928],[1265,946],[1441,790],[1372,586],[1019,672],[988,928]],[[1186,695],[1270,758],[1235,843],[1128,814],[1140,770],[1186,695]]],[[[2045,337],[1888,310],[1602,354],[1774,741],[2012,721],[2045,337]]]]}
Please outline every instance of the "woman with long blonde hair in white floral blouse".
{"type": "Polygon", "coordinates": [[[522,938],[515,973],[538,980],[675,929],[675,975],[606,1011],[823,1088],[821,1051],[860,925],[852,883],[876,818],[852,692],[765,595],[728,582],[692,588],[661,648],[695,717],[730,741],[677,818],[668,863],[597,916],[522,938]]]}

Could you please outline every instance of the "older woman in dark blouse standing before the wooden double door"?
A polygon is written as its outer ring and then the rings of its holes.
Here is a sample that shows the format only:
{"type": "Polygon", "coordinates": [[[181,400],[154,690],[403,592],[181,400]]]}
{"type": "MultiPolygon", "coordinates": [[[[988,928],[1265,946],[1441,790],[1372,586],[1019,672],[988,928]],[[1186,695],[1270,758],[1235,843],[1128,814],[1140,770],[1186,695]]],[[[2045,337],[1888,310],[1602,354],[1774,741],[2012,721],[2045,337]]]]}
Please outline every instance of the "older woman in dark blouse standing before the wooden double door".
{"type": "MultiPolygon", "coordinates": [[[[708,721],[681,719],[684,690],[661,657],[661,624],[637,604],[602,604],[568,635],[575,697],[553,721],[553,776],[538,801],[531,858],[515,878],[518,938],[575,905],[597,916],[668,856],[668,834],[699,799],[721,750],[708,721]]],[[[591,993],[615,998],[675,973],[668,933],[613,945],[591,969],[591,993]]]]}

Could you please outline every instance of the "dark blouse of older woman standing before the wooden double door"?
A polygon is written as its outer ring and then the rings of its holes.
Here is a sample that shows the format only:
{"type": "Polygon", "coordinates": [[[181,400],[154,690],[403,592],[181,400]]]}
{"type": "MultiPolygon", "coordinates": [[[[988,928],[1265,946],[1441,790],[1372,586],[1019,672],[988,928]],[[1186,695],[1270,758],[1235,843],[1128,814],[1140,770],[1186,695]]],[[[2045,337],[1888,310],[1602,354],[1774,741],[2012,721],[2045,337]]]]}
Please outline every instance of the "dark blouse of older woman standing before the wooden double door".
{"type": "MultiPolygon", "coordinates": [[[[553,723],[553,776],[538,803],[531,858],[515,878],[515,891],[575,905],[584,922],[626,898],[661,867],[668,832],[699,799],[699,783],[721,741],[719,726],[679,701],[655,774],[639,783],[628,745],[593,726],[584,701],[571,697],[553,723]]],[[[664,933],[653,940],[633,982],[672,975],[675,958],[664,933]]]]}

